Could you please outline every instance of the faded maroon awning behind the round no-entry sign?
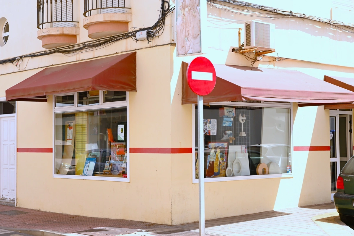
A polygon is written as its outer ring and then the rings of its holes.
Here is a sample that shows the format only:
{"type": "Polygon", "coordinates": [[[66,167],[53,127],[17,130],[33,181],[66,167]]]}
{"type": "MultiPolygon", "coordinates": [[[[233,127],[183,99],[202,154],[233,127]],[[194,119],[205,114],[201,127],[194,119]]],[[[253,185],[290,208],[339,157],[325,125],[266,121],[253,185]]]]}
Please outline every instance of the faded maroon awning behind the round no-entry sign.
{"type": "MultiPolygon", "coordinates": [[[[182,104],[197,103],[187,83],[187,62],[182,62],[182,104]]],[[[307,74],[282,70],[214,64],[216,85],[204,102],[242,100],[352,103],[354,92],[307,74]]]]}

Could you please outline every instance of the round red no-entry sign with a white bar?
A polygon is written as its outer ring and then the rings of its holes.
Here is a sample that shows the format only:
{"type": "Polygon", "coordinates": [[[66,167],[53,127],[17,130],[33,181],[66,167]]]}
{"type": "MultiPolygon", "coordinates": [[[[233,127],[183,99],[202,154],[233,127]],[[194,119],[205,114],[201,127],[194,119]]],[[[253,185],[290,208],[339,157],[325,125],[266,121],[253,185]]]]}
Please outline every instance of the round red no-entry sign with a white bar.
{"type": "Polygon", "coordinates": [[[189,88],[200,96],[210,94],[216,84],[216,72],[213,63],[205,57],[197,57],[187,67],[189,88]]]}

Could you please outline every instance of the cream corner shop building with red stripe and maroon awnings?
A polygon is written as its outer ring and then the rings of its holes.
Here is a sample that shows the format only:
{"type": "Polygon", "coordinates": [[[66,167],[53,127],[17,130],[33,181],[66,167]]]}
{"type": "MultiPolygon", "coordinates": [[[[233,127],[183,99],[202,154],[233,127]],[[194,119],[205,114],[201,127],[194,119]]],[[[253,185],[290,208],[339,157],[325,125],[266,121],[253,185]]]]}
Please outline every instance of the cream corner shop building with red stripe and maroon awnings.
{"type": "Polygon", "coordinates": [[[198,221],[186,71],[199,56],[217,76],[204,106],[206,219],[331,201],[353,153],[353,5],[91,2],[1,2],[2,203],[198,221]],[[246,21],[272,24],[275,52],[234,52],[246,21]]]}

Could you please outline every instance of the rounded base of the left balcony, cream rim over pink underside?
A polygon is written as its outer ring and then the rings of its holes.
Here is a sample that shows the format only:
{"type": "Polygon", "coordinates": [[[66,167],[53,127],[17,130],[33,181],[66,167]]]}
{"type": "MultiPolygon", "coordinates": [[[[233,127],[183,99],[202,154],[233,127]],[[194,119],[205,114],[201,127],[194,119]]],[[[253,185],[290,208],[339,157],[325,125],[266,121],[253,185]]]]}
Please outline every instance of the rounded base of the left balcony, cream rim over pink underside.
{"type": "Polygon", "coordinates": [[[79,27],[55,27],[38,30],[37,38],[42,40],[42,47],[51,49],[76,44],[78,34],[79,27]]]}

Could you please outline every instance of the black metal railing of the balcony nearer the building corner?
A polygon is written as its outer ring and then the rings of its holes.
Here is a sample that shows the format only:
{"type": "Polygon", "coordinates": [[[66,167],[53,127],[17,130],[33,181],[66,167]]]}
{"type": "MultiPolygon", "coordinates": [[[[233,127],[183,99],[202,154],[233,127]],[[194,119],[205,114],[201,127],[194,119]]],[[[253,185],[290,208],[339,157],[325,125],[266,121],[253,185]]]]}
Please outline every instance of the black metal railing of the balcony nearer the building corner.
{"type": "Polygon", "coordinates": [[[84,0],[84,16],[103,13],[125,13],[126,0],[84,0]]]}

